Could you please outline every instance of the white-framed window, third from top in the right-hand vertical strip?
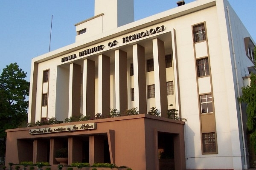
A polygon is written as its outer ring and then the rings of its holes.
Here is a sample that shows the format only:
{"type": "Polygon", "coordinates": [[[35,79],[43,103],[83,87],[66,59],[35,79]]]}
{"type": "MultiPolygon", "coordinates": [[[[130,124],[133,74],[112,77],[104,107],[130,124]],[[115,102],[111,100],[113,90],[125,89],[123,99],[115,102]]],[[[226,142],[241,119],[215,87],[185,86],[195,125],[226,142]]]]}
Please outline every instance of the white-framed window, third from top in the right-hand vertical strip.
{"type": "Polygon", "coordinates": [[[212,94],[205,94],[200,96],[201,113],[212,113],[212,94]]]}

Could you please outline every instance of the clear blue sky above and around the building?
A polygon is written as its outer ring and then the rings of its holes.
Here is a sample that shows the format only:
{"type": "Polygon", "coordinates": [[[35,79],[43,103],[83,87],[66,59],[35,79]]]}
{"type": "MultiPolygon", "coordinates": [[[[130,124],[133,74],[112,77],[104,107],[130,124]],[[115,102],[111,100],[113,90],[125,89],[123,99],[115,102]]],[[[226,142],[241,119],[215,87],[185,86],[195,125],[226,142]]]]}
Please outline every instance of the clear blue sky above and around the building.
{"type": "MultiPolygon", "coordinates": [[[[134,0],[134,19],[166,11],[178,0],[134,0]]],[[[190,3],[195,0],[185,0],[190,3]]],[[[229,0],[256,41],[256,0],[229,0]]],[[[0,73],[17,62],[30,79],[31,59],[75,42],[74,24],[94,16],[94,0],[0,0],[0,73]]]]}

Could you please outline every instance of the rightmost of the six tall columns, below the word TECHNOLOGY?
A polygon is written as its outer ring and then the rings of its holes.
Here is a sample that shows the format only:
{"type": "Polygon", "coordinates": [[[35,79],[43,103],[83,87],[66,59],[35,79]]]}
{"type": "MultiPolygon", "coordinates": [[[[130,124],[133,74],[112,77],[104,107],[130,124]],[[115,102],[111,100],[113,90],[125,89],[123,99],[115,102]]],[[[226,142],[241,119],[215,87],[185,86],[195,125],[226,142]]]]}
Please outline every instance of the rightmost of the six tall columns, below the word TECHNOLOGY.
{"type": "Polygon", "coordinates": [[[164,42],[157,38],[153,40],[153,59],[156,108],[162,113],[162,117],[167,117],[167,114],[165,114],[168,110],[168,101],[164,42]]]}

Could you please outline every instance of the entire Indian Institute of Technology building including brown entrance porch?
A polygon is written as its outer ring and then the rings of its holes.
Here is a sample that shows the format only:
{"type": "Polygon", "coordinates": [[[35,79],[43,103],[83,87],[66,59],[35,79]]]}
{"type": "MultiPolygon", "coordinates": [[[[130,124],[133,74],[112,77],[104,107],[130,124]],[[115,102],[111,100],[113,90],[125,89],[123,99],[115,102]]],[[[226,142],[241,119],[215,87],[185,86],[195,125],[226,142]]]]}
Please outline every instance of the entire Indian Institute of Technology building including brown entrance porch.
{"type": "Polygon", "coordinates": [[[166,151],[177,170],[250,167],[237,98],[255,72],[255,42],[228,1],[195,0],[135,22],[133,11],[133,0],[95,0],[75,43],[32,59],[28,122],[140,114],[6,130],[6,162],[58,164],[55,151],[67,146],[68,164],[156,170],[166,151]],[[186,121],[168,119],[170,109],[186,121]]]}

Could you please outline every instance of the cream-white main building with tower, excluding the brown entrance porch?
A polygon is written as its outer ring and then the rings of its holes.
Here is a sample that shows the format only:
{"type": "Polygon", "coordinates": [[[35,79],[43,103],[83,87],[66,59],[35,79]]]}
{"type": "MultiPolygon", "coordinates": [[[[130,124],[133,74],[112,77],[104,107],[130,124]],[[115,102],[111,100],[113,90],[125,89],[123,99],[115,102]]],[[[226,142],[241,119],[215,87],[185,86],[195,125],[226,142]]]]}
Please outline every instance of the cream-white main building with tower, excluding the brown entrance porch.
{"type": "Polygon", "coordinates": [[[255,42],[227,0],[135,22],[133,0],[95,0],[95,17],[75,26],[75,43],[32,59],[28,122],[109,108],[167,117],[173,107],[187,120],[186,169],[249,168],[237,98],[255,71],[255,42]]]}

